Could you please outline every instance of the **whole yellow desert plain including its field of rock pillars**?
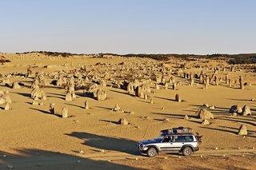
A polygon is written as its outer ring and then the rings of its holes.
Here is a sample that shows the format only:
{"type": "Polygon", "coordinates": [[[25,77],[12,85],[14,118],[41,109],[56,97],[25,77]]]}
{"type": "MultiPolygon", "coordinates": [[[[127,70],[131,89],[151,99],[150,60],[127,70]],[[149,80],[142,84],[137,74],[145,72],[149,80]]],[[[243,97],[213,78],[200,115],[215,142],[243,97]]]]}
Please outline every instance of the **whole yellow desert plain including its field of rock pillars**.
{"type": "Polygon", "coordinates": [[[0,65],[1,169],[256,167],[255,65],[42,53],[0,56],[10,60],[0,65]],[[200,81],[202,71],[208,84],[200,81]],[[175,101],[176,94],[181,102],[175,101]],[[230,112],[232,105],[249,106],[250,114],[230,112]],[[210,125],[202,125],[198,109],[213,113],[210,125]],[[241,125],[246,135],[238,135],[241,125]],[[202,135],[193,156],[138,155],[138,140],[178,126],[202,135]]]}

